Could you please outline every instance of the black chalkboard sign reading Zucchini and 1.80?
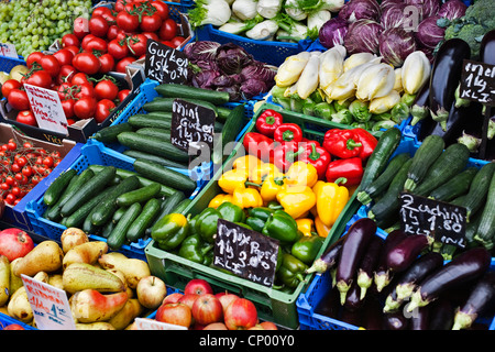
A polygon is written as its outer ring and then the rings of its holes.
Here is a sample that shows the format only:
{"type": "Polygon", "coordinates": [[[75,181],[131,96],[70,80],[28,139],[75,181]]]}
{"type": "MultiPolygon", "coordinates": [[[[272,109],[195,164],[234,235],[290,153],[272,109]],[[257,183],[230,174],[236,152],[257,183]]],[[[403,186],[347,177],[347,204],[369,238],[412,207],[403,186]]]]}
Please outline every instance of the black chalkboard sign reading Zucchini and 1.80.
{"type": "Polygon", "coordinates": [[[433,235],[442,243],[465,248],[464,207],[402,193],[399,212],[402,229],[407,234],[433,235]]]}

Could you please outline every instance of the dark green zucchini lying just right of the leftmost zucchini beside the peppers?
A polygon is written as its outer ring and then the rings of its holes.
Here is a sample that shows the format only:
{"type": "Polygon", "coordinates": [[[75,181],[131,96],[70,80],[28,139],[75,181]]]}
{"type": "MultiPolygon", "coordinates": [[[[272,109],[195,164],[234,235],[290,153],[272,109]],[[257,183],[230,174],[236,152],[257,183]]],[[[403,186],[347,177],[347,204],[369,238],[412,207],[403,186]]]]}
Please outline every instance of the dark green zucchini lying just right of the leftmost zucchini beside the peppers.
{"type": "Polygon", "coordinates": [[[410,158],[409,153],[402,153],[396,156],[394,156],[388,165],[386,166],[385,170],[376,177],[376,179],[371,183],[366,189],[363,189],[358,193],[358,200],[362,205],[370,204],[373,199],[375,199],[378,195],[381,195],[383,191],[385,191],[391,184],[394,176],[397,174],[397,172],[400,169],[400,167],[404,165],[405,162],[407,162],[410,158]]]}

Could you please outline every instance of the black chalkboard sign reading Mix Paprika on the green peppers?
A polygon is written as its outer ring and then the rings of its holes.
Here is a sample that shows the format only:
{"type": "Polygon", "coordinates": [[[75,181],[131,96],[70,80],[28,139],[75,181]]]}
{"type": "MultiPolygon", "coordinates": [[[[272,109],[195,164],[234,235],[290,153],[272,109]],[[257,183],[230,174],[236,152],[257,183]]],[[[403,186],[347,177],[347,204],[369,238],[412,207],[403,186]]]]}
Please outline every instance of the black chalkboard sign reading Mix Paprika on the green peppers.
{"type": "Polygon", "coordinates": [[[275,280],[278,241],[260,232],[219,219],[213,265],[268,287],[275,280]]]}

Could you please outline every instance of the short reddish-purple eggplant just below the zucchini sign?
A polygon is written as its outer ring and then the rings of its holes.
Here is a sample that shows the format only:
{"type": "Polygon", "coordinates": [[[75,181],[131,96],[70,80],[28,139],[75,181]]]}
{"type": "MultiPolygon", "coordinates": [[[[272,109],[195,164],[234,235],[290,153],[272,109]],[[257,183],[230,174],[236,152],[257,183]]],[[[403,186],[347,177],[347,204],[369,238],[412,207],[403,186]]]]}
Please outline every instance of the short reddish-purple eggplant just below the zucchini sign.
{"type": "Polygon", "coordinates": [[[409,234],[387,253],[387,267],[394,273],[404,272],[433,241],[433,237],[409,234]]]}

